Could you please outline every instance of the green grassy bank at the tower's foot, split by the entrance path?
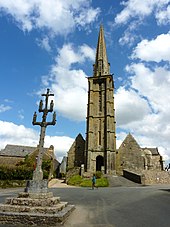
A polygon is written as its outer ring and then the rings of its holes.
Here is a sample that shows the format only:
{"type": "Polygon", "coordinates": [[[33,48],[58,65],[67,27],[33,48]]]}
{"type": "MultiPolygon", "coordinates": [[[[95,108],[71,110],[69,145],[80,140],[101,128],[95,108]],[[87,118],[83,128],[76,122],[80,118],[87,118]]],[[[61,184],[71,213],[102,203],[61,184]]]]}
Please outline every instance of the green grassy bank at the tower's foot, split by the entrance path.
{"type": "MultiPolygon", "coordinates": [[[[68,180],[68,185],[74,185],[74,186],[80,186],[80,187],[91,187],[92,186],[92,181],[91,179],[87,178],[82,178],[80,175],[75,175],[72,176],[68,180]]],[[[97,187],[108,187],[109,182],[107,178],[101,177],[96,180],[96,186],[97,187]]]]}

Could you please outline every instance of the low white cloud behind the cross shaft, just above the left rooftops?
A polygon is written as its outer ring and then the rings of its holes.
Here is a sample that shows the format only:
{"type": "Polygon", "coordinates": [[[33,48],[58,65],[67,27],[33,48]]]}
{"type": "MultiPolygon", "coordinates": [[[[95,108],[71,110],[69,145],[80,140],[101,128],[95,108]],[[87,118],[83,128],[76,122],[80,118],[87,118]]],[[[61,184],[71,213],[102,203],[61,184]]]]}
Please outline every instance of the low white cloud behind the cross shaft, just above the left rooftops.
{"type": "MultiPolygon", "coordinates": [[[[4,149],[7,144],[37,146],[39,142],[39,133],[33,129],[26,128],[23,125],[16,125],[12,122],[0,121],[0,149],[4,149]]],[[[54,146],[55,156],[61,161],[62,157],[74,142],[73,138],[67,136],[46,136],[44,147],[54,146]]]]}

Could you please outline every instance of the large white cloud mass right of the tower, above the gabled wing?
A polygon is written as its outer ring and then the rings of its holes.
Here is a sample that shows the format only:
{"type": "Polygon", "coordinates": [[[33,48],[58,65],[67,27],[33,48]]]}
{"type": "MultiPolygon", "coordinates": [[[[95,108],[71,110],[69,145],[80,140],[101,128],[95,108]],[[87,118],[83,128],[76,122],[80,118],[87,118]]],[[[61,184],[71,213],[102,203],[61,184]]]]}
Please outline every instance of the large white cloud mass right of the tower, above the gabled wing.
{"type": "Polygon", "coordinates": [[[170,71],[151,70],[142,63],[126,70],[130,87],[119,88],[115,95],[117,126],[134,134],[140,146],[160,148],[164,160],[170,161],[170,71]]]}

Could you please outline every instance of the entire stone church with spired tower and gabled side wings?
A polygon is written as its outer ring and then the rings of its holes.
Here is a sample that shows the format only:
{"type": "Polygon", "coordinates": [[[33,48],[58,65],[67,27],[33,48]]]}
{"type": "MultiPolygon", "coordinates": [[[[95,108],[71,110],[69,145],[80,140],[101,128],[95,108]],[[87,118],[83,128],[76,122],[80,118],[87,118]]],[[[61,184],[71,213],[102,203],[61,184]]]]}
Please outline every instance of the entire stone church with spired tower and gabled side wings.
{"type": "Polygon", "coordinates": [[[93,76],[88,77],[86,139],[79,134],[68,151],[68,169],[84,164],[86,172],[122,175],[130,171],[163,170],[157,148],[141,148],[131,134],[116,150],[114,80],[100,26],[93,76]]]}

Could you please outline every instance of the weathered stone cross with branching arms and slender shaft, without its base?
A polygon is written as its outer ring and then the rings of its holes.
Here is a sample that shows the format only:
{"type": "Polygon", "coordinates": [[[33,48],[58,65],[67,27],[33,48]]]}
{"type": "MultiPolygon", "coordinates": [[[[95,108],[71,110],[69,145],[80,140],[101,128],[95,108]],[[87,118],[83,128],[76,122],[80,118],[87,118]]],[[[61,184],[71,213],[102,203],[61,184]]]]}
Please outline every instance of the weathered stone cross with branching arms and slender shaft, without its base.
{"type": "Polygon", "coordinates": [[[49,98],[49,96],[54,96],[54,94],[50,94],[50,89],[47,89],[47,93],[42,94],[42,96],[45,96],[45,107],[43,108],[43,101],[40,100],[39,109],[38,109],[39,112],[43,113],[42,121],[41,122],[36,121],[36,119],[37,119],[36,112],[33,115],[33,121],[32,121],[33,125],[41,126],[40,140],[39,140],[39,145],[38,145],[38,148],[39,148],[38,159],[37,159],[37,163],[36,163],[36,169],[33,173],[33,180],[35,180],[35,181],[43,180],[42,158],[43,158],[43,154],[44,154],[44,138],[45,138],[46,127],[48,125],[56,124],[56,112],[53,113],[53,119],[51,122],[46,121],[47,114],[49,112],[52,113],[53,107],[54,107],[53,100],[51,100],[50,107],[48,108],[48,98],[49,98]]]}

